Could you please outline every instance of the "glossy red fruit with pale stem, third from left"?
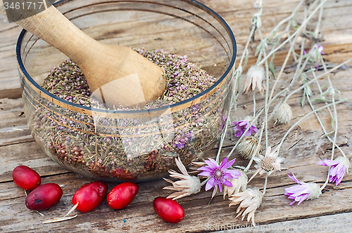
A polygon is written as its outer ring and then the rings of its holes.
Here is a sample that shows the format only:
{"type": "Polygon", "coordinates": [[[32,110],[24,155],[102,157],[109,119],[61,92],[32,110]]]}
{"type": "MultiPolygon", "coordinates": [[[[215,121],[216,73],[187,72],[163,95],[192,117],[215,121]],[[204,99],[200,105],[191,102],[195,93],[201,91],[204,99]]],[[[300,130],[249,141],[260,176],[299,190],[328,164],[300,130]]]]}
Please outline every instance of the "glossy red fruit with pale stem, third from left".
{"type": "Polygon", "coordinates": [[[108,193],[108,185],[101,181],[94,181],[89,184],[82,185],[75,192],[72,199],[72,204],[78,202],[77,210],[81,212],[93,211],[98,207],[108,193]]]}

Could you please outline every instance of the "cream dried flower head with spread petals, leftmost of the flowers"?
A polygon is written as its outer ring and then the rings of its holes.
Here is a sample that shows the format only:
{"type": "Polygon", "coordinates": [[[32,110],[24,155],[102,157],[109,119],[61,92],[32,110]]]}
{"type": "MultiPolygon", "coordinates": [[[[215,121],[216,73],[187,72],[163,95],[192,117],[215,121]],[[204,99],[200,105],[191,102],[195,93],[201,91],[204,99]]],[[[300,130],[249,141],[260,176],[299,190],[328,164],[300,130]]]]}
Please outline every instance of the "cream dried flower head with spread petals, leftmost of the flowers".
{"type": "Polygon", "coordinates": [[[199,178],[187,173],[186,167],[182,164],[180,157],[175,159],[175,161],[182,174],[169,170],[170,177],[178,178],[180,180],[173,182],[172,180],[164,178],[164,180],[170,182],[172,186],[164,187],[163,189],[177,191],[173,194],[170,194],[167,198],[172,198],[175,200],[181,197],[189,196],[191,194],[196,194],[197,192],[201,191],[201,181],[199,178]]]}

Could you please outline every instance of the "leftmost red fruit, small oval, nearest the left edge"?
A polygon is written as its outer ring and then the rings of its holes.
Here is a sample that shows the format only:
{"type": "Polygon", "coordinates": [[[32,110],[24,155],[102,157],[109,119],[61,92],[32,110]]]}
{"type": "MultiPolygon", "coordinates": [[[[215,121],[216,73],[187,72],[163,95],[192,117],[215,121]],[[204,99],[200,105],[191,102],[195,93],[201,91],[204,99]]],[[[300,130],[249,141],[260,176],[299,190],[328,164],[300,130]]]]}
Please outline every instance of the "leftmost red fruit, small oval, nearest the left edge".
{"type": "Polygon", "coordinates": [[[16,166],[12,171],[13,182],[21,189],[32,190],[42,183],[40,175],[24,165],[16,166]]]}

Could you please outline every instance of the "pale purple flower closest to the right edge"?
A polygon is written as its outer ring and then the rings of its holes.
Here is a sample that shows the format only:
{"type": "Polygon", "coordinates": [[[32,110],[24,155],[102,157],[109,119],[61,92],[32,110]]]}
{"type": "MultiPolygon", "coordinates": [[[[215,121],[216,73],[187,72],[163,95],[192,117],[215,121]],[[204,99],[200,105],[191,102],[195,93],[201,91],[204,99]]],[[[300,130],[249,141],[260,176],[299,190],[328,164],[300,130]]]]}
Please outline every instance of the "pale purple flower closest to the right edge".
{"type": "Polygon", "coordinates": [[[348,174],[348,168],[350,167],[350,162],[345,157],[337,157],[334,160],[325,159],[318,161],[317,164],[330,167],[329,182],[335,182],[336,186],[344,178],[346,171],[348,174]]]}

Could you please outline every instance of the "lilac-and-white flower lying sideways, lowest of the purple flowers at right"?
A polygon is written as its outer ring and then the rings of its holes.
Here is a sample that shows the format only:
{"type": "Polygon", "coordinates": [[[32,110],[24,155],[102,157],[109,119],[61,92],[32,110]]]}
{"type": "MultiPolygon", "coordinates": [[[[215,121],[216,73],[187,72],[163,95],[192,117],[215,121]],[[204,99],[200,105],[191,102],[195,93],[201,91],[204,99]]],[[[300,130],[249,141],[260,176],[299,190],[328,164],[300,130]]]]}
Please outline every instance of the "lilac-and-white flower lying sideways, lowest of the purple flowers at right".
{"type": "Polygon", "coordinates": [[[296,176],[294,176],[294,173],[291,172],[292,175],[289,175],[289,178],[291,180],[294,180],[298,185],[294,185],[292,187],[287,187],[285,189],[285,195],[289,196],[289,199],[293,199],[289,205],[293,205],[296,201],[298,201],[298,204],[301,204],[302,201],[304,200],[309,200],[309,199],[315,199],[322,194],[319,185],[315,183],[305,183],[305,182],[300,182],[297,180],[296,176]]]}

